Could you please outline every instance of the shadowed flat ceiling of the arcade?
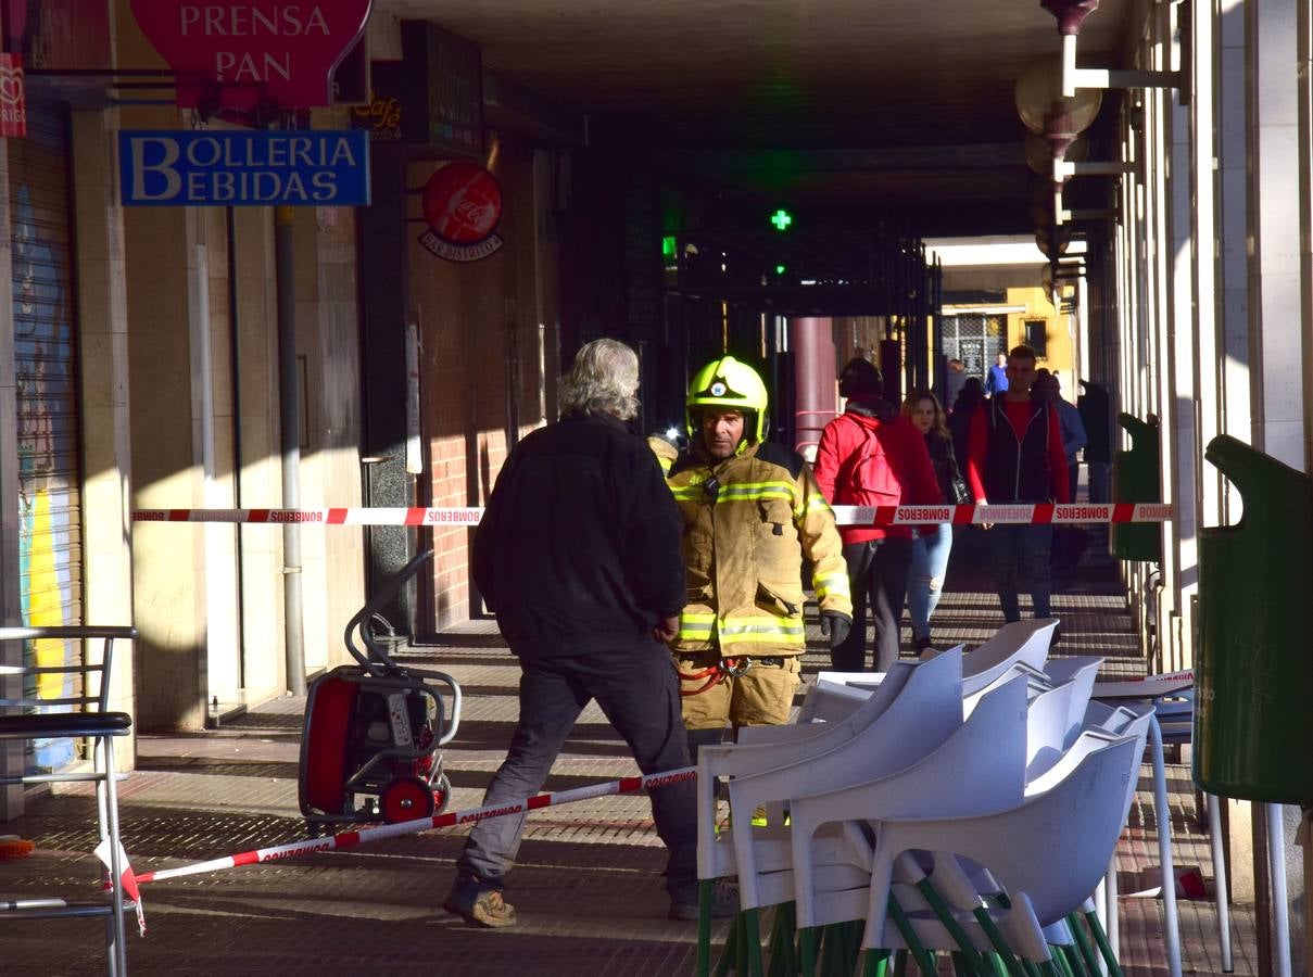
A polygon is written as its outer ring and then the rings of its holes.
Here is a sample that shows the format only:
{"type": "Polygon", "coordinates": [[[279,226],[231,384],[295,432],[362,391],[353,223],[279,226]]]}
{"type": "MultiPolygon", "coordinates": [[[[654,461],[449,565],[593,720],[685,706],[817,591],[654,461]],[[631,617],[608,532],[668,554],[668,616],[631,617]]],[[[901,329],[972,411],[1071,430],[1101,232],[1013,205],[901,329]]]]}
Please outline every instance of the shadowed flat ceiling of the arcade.
{"type": "MultiPolygon", "coordinates": [[[[1144,0],[1103,0],[1081,63],[1121,64],[1144,0]]],[[[1039,0],[377,0],[479,45],[730,207],[767,200],[920,236],[1031,228],[1012,84],[1058,50],[1039,0]]],[[[1104,106],[1100,125],[1112,116],[1104,106]]],[[[1092,185],[1082,188],[1094,192],[1092,185]]],[[[1091,204],[1081,204],[1088,206],[1091,204]]]]}

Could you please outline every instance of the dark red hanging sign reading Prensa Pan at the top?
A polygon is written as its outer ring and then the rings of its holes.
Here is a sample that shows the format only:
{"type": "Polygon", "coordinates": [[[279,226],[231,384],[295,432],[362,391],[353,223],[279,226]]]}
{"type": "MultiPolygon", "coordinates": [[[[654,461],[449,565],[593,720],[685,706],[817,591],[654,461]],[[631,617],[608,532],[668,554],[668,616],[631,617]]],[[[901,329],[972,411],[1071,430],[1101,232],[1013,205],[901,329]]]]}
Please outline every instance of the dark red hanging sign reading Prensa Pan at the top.
{"type": "Polygon", "coordinates": [[[130,0],[142,33],[179,74],[184,109],[332,105],[332,75],[372,0],[130,0]]]}

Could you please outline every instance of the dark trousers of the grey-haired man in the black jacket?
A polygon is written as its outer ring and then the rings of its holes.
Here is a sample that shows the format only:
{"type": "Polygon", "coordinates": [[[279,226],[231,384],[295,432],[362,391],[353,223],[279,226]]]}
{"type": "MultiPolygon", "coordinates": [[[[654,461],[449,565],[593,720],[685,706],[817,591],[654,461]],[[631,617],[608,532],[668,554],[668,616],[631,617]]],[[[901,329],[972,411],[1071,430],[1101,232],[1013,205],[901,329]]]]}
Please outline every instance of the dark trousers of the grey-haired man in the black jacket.
{"type": "MultiPolygon", "coordinates": [[[[570,658],[521,659],[520,721],[511,751],[488,784],[484,805],[542,789],[575,720],[596,699],[643,773],[688,767],[679,679],[664,645],[643,636],[628,646],[570,658]]],[[[697,894],[697,794],[692,781],[649,792],[656,834],[670,850],[666,888],[680,901],[697,894]]],[[[456,865],[475,890],[500,888],[515,863],[524,814],[479,821],[456,865]]]]}

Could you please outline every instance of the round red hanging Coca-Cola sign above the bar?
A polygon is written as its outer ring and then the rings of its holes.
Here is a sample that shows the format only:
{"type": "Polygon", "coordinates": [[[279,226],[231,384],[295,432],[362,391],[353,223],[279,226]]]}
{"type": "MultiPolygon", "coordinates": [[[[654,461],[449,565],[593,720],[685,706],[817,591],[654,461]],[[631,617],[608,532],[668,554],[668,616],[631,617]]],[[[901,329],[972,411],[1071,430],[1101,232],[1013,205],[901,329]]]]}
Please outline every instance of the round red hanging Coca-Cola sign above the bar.
{"type": "Polygon", "coordinates": [[[424,186],[424,222],[419,243],[448,261],[478,261],[506,243],[496,234],[502,186],[477,163],[448,163],[424,186]]]}

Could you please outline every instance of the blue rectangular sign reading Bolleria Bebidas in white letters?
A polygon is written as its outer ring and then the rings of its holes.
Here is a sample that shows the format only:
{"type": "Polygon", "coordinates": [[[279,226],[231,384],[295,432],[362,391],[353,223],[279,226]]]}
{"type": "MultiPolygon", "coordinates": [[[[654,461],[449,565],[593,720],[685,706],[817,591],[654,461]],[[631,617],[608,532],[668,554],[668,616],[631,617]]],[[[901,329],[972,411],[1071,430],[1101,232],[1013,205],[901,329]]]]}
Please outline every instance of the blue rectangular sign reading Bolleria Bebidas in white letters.
{"type": "Polygon", "coordinates": [[[123,206],[362,206],[364,131],[121,130],[123,206]]]}

